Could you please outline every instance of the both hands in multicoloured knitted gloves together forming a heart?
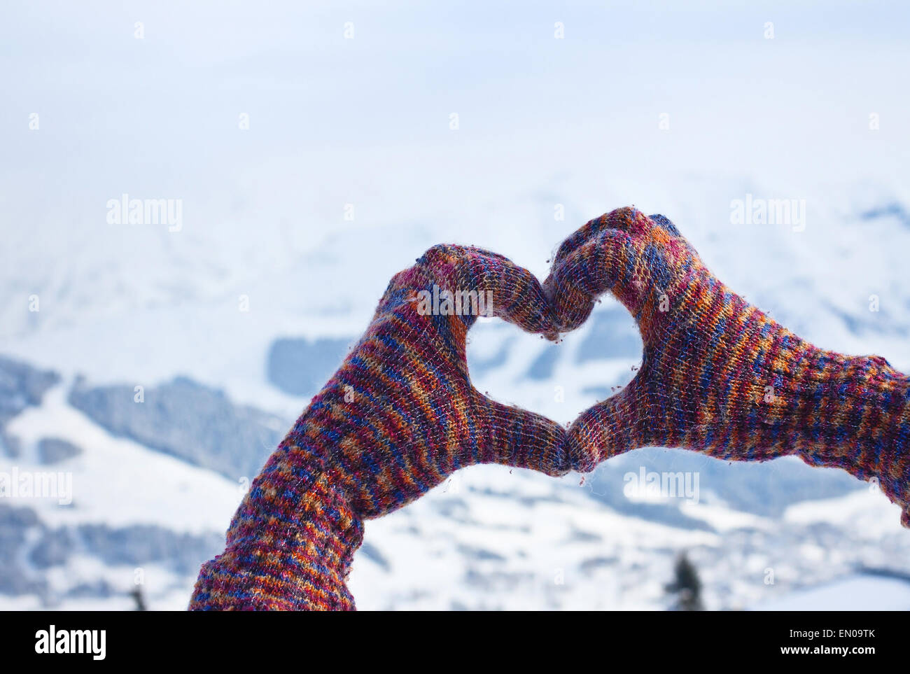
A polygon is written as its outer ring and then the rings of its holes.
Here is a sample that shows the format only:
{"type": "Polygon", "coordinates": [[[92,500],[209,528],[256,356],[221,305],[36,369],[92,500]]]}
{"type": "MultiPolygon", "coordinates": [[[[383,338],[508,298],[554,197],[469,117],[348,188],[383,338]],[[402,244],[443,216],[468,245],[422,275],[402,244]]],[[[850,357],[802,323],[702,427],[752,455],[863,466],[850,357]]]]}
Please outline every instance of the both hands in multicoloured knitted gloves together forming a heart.
{"type": "Polygon", "coordinates": [[[907,377],[779,326],[662,216],[621,208],[591,220],[562,243],[542,287],[505,257],[434,246],[392,278],[367,332],[268,459],[190,606],[353,609],[345,578],[361,520],[474,463],[561,475],[645,445],[797,454],[877,478],[910,526],[908,438],[907,377]],[[492,314],[555,339],[606,291],[638,323],[642,368],[568,430],[470,384],[465,341],[478,311],[458,310],[466,294],[469,307],[490,297],[492,314]]]}

